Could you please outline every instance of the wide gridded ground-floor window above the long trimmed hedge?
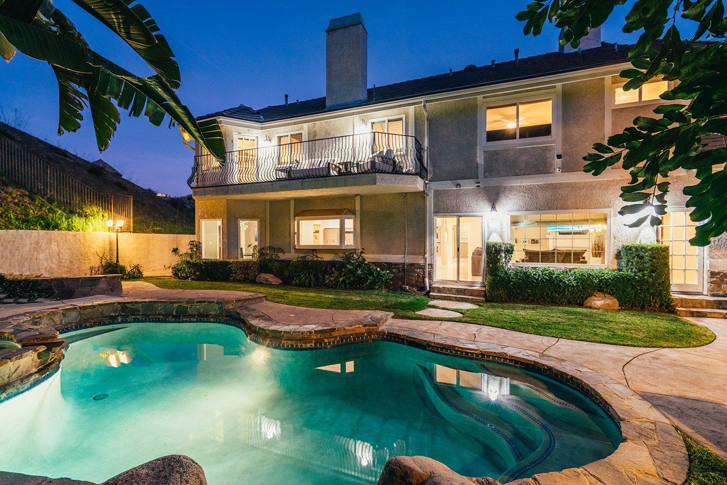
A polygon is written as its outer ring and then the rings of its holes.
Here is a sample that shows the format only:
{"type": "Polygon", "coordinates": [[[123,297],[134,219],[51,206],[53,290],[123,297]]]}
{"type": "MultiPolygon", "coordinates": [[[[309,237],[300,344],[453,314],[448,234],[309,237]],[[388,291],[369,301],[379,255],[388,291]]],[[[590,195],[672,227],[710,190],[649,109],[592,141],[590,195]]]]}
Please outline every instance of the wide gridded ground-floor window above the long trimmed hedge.
{"type": "Polygon", "coordinates": [[[510,214],[513,263],[606,265],[608,212],[510,214]]]}

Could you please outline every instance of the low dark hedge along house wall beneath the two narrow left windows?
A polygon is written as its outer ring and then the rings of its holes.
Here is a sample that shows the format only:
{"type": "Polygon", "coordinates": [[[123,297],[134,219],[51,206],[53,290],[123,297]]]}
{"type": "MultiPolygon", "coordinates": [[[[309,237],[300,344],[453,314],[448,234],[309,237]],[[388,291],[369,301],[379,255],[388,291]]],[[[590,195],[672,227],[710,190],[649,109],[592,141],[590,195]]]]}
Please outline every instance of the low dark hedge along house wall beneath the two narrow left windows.
{"type": "Polygon", "coordinates": [[[194,281],[254,281],[260,273],[257,260],[181,260],[172,265],[172,276],[194,281]]]}

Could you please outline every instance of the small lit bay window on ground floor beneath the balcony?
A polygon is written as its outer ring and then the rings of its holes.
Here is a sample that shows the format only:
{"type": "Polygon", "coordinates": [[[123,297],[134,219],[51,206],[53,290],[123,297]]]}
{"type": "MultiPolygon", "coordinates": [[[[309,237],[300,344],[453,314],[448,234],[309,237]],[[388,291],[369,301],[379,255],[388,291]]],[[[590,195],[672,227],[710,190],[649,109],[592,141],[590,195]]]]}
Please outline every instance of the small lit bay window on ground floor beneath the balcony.
{"type": "Polygon", "coordinates": [[[296,247],[353,248],[353,220],[349,209],[302,211],[295,218],[296,247]]]}

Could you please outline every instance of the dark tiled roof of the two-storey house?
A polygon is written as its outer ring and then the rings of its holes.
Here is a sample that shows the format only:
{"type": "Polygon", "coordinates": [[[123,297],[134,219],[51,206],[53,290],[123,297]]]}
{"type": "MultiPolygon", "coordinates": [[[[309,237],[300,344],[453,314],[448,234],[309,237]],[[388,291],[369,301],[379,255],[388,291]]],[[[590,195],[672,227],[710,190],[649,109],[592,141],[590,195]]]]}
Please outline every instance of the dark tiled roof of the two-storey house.
{"type": "MultiPolygon", "coordinates": [[[[369,88],[368,97],[356,106],[375,105],[393,100],[406,99],[439,92],[456,91],[469,87],[488,86],[508,81],[531,79],[570,71],[579,71],[603,65],[623,63],[628,60],[628,52],[632,48],[628,44],[610,44],[603,42],[601,47],[583,49],[580,52],[549,52],[547,54],[523,57],[518,61],[510,60],[494,65],[479,67],[468,66],[462,71],[438,74],[411,81],[403,81],[386,86],[369,88]]],[[[352,105],[337,106],[326,110],[326,98],[316,97],[312,100],[297,101],[287,105],[268,106],[254,110],[249,106],[239,105],[216,113],[200,116],[208,119],[217,116],[241,119],[245,121],[276,121],[297,116],[307,116],[325,111],[336,111],[350,108],[352,105]]]]}

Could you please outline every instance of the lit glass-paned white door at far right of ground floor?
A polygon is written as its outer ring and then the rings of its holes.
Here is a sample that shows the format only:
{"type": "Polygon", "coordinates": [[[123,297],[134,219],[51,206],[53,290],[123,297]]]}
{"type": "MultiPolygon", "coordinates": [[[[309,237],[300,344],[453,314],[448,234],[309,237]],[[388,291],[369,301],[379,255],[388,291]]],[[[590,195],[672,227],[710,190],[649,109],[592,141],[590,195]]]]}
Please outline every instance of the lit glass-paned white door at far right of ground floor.
{"type": "Polygon", "coordinates": [[[662,217],[659,242],[669,246],[672,270],[672,291],[704,292],[704,248],[692,246],[697,223],[689,218],[688,209],[672,209],[662,217]]]}

